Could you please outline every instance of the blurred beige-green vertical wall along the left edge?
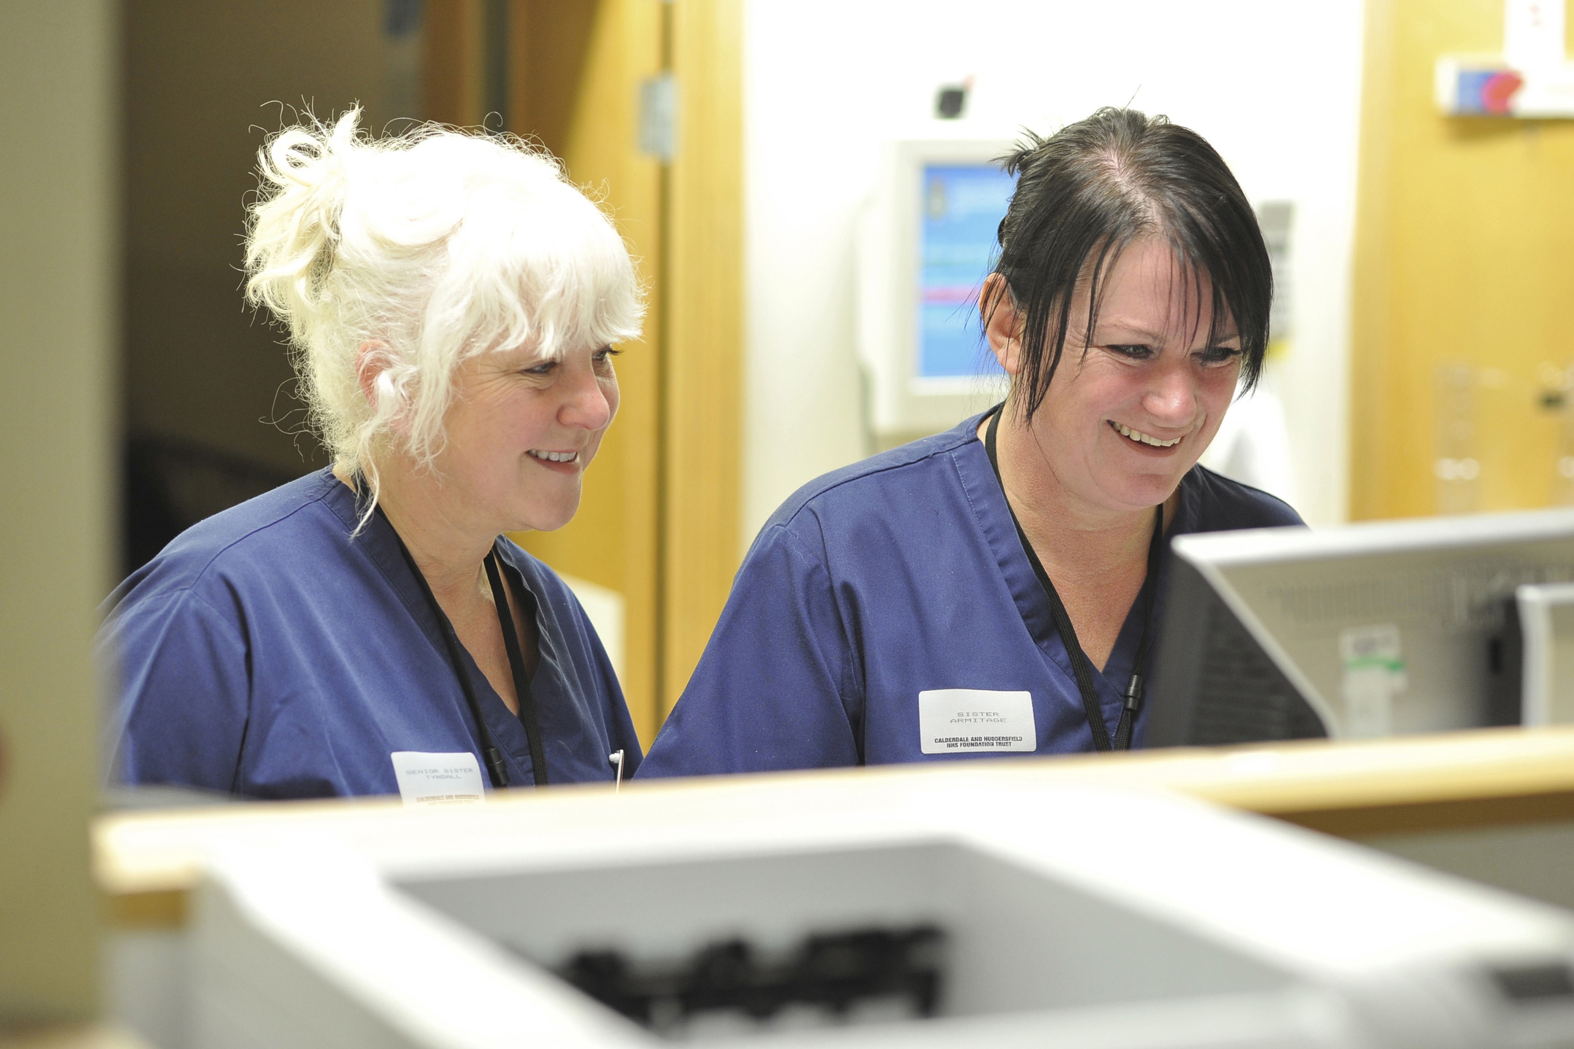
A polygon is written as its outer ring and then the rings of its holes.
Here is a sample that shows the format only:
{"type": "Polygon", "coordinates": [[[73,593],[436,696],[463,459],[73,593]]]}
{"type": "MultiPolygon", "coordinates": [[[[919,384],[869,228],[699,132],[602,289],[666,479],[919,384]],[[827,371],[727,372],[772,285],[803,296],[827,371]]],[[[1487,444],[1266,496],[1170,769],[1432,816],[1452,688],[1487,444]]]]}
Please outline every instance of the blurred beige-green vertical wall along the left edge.
{"type": "Polygon", "coordinates": [[[0,1030],[96,1010],[113,8],[0,3],[0,1030]]]}

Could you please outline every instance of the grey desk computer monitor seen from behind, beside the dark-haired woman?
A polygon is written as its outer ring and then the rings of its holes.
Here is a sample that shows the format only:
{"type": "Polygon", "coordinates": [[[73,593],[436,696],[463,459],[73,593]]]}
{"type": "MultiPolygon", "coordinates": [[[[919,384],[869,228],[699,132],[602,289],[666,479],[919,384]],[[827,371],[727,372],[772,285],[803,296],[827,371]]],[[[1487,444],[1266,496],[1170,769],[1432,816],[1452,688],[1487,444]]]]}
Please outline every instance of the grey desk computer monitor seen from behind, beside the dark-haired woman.
{"type": "Polygon", "coordinates": [[[1508,609],[1574,580],[1574,510],[1177,536],[1144,745],[1522,719],[1508,609]]]}

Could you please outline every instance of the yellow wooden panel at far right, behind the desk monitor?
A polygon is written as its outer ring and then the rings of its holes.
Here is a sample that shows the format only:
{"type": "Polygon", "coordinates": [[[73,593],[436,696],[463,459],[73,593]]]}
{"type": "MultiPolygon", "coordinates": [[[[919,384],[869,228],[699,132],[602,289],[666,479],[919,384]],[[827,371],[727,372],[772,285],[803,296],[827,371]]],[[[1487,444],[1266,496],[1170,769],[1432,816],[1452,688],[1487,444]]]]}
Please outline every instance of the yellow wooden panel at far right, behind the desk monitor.
{"type": "Polygon", "coordinates": [[[1566,499],[1574,121],[1439,113],[1437,57],[1498,52],[1500,0],[1368,0],[1366,30],[1352,517],[1437,513],[1464,458],[1461,508],[1566,499]]]}

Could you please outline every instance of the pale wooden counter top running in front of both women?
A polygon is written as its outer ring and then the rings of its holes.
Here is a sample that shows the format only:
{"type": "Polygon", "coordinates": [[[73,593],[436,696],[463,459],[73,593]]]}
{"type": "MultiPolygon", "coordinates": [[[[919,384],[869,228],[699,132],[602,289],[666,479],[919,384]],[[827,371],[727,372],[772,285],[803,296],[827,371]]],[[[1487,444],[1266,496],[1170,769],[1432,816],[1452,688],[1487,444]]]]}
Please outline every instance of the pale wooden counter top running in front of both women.
{"type": "MultiPolygon", "coordinates": [[[[1494,728],[1369,742],[1308,741],[1218,750],[1151,750],[787,772],[611,786],[510,791],[488,807],[548,821],[639,821],[680,802],[688,813],[790,805],[795,791],[834,791],[848,777],[894,788],[911,777],[992,775],[1173,790],[1341,837],[1574,818],[1574,728],[1494,728]]],[[[184,895],[214,841],[236,834],[332,830],[378,840],[411,832],[398,799],[258,802],[120,812],[93,827],[94,871],[120,926],[179,925],[184,895]]]]}

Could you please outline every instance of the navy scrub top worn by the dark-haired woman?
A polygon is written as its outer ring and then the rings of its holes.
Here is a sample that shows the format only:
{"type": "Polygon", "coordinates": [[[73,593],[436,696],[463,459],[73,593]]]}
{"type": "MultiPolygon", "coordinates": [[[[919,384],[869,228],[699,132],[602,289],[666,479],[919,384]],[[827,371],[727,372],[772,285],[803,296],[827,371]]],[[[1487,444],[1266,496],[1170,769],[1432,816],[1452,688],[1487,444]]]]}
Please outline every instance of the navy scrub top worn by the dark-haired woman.
{"type": "MultiPolygon", "coordinates": [[[[1094,749],[981,420],[828,473],[771,516],[641,775],[985,756],[922,753],[919,692],[938,689],[1031,692],[1037,753],[1094,749]]],[[[1169,535],[1297,524],[1278,499],[1195,467],[1169,535]]],[[[1155,632],[1166,576],[1168,555],[1155,632]]],[[[1094,672],[1111,738],[1141,620],[1136,601],[1094,672]]]]}

